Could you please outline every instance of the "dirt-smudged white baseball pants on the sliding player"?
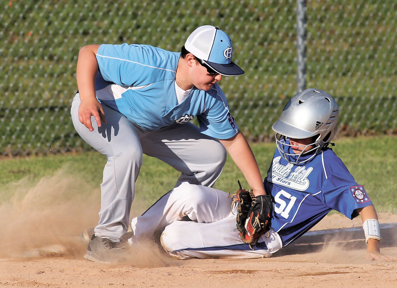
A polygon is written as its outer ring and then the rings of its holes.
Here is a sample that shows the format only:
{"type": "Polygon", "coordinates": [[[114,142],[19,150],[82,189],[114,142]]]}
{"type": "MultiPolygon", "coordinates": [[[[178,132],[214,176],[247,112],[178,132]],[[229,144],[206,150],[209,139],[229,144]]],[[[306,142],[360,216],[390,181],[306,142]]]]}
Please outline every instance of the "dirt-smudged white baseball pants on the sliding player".
{"type": "Polygon", "coordinates": [[[262,258],[270,257],[282,247],[281,238],[273,230],[262,235],[256,246],[241,241],[236,229],[236,206],[228,193],[182,183],[174,188],[142,216],[131,221],[134,233],[129,243],[152,238],[163,231],[161,244],[178,259],[197,258],[262,258]],[[180,221],[183,217],[192,221],[180,221]]]}

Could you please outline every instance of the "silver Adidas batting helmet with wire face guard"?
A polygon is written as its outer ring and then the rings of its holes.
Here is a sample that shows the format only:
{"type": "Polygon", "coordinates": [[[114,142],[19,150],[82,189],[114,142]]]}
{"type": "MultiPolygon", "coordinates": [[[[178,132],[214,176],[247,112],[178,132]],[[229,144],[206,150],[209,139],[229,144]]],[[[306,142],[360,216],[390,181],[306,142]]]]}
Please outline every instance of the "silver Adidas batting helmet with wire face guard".
{"type": "Polygon", "coordinates": [[[339,109],[335,100],[325,91],[309,88],[292,97],[285,105],[279,120],[273,124],[277,148],[283,158],[293,164],[303,164],[327,147],[337,131],[339,109]],[[301,147],[314,148],[295,154],[289,138],[314,137],[314,142],[301,147]],[[287,146],[287,147],[285,147],[287,146]],[[286,148],[286,149],[285,149],[286,148]],[[289,153],[291,152],[291,153],[289,153]],[[309,157],[303,157],[308,155],[309,157]]]}

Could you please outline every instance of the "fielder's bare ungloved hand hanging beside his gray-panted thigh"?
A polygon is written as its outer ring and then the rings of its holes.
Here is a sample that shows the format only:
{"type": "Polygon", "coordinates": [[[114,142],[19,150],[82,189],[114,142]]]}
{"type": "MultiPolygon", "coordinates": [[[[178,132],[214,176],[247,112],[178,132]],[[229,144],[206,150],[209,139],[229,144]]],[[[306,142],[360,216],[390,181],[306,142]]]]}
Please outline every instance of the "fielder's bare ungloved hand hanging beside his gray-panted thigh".
{"type": "Polygon", "coordinates": [[[98,127],[102,125],[101,121],[107,123],[103,107],[96,98],[82,100],[79,106],[79,120],[92,132],[94,128],[91,123],[91,116],[94,116],[98,127]]]}

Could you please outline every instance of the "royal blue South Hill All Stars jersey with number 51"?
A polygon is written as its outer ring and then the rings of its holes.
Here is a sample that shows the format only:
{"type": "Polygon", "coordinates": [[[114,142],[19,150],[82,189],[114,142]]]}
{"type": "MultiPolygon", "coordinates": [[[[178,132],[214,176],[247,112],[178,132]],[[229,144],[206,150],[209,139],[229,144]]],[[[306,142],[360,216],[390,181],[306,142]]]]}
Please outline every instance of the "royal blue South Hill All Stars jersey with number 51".
{"type": "Polygon", "coordinates": [[[358,216],[355,209],[372,204],[364,187],[356,183],[330,148],[300,166],[288,163],[276,149],[264,185],[274,198],[271,227],[283,246],[306,233],[332,209],[353,219],[358,216]]]}

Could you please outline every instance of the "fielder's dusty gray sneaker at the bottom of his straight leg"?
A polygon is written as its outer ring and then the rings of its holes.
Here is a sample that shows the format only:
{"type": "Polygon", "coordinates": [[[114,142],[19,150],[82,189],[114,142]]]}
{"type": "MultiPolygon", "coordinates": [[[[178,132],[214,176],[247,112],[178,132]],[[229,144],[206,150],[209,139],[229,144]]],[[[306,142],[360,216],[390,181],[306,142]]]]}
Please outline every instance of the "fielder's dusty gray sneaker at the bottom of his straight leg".
{"type": "Polygon", "coordinates": [[[84,258],[93,262],[115,263],[126,260],[126,248],[120,242],[92,235],[84,258]]]}

